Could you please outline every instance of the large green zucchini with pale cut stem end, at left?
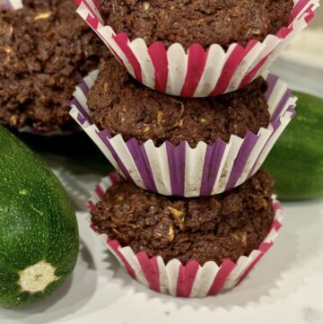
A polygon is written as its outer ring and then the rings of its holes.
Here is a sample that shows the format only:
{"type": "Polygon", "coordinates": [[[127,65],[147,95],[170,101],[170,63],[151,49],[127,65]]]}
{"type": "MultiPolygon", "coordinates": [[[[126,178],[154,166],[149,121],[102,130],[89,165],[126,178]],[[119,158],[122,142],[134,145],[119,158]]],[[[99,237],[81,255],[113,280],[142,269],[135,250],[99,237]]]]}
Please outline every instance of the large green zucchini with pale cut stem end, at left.
{"type": "Polygon", "coordinates": [[[73,271],[78,248],[74,209],[57,177],[0,126],[0,305],[48,297],[73,271]]]}

